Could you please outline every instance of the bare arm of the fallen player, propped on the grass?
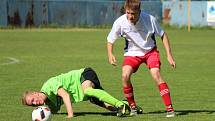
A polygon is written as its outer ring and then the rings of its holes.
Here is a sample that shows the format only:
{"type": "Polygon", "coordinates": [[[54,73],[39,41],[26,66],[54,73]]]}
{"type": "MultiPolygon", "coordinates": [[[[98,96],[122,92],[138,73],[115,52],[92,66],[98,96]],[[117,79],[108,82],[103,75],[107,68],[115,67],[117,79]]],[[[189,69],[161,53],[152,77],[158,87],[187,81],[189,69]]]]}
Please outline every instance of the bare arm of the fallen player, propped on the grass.
{"type": "Polygon", "coordinates": [[[69,93],[66,90],[64,90],[63,88],[59,88],[57,93],[60,97],[62,97],[63,102],[66,106],[66,110],[67,110],[67,114],[68,114],[67,117],[68,118],[73,117],[73,109],[72,109],[72,103],[70,100],[69,93]]]}

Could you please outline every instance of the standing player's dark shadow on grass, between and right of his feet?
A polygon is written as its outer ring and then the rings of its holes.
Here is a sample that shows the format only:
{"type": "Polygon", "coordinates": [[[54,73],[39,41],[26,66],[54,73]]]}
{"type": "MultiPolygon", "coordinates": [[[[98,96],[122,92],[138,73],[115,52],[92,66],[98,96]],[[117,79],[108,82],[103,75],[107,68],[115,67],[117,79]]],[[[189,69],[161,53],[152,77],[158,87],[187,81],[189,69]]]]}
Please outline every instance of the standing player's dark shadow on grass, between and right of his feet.
{"type": "MultiPolygon", "coordinates": [[[[215,110],[175,110],[177,115],[188,115],[192,113],[206,113],[213,114],[215,110]]],[[[154,112],[146,112],[145,114],[162,114],[166,113],[166,111],[154,111],[154,112]]]]}

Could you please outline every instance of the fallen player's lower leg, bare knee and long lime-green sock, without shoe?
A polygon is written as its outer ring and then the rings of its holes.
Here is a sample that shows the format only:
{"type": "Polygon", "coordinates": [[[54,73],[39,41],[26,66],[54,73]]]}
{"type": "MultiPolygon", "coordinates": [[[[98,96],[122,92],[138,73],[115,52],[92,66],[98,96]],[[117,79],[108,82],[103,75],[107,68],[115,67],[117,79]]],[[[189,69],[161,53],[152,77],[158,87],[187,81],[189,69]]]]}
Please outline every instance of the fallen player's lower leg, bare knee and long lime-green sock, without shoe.
{"type": "Polygon", "coordinates": [[[116,107],[119,107],[124,104],[120,100],[117,100],[116,98],[111,96],[109,93],[107,93],[106,91],[101,90],[101,89],[87,88],[84,90],[84,94],[87,96],[96,97],[100,101],[106,102],[106,103],[111,104],[116,107]]]}

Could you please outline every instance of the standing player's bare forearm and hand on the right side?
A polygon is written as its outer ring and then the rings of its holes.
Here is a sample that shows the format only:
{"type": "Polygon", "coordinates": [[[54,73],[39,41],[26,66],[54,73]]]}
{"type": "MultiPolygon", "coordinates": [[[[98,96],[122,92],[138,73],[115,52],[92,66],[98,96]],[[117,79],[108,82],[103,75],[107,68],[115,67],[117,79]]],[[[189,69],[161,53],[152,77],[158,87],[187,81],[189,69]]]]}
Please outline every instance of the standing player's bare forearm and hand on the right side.
{"type": "Polygon", "coordinates": [[[161,37],[163,41],[164,48],[166,50],[166,56],[167,60],[169,61],[170,65],[172,65],[173,68],[176,68],[176,63],[174,61],[174,58],[172,56],[171,48],[170,48],[170,42],[167,34],[164,32],[163,36],[161,37]]]}

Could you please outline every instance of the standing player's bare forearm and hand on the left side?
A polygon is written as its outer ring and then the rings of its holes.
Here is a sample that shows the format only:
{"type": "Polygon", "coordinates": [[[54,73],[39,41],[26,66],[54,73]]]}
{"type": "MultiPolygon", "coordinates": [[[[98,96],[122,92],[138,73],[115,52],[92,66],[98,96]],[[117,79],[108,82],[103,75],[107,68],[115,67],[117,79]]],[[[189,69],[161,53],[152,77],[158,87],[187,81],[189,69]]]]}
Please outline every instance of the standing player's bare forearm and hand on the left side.
{"type": "Polygon", "coordinates": [[[111,65],[116,66],[116,57],[113,55],[113,43],[107,43],[108,61],[111,65]]]}

